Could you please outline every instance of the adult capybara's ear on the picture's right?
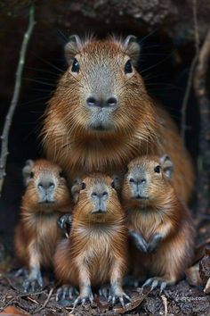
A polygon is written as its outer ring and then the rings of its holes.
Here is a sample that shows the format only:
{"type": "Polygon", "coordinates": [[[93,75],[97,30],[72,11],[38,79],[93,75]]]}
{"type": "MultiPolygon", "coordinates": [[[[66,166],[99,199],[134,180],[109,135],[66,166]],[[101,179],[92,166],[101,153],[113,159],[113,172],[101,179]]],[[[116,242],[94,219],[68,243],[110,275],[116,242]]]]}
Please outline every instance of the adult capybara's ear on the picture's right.
{"type": "Polygon", "coordinates": [[[141,51],[140,45],[137,43],[137,37],[134,35],[128,35],[123,41],[125,53],[131,58],[133,63],[136,63],[141,51]]]}

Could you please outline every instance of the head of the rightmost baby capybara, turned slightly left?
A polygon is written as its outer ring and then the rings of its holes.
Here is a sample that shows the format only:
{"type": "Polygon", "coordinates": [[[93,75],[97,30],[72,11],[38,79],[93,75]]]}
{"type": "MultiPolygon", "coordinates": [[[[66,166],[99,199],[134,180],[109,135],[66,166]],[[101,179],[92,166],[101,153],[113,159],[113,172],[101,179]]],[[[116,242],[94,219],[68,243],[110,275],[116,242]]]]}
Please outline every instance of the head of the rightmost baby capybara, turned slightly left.
{"type": "Polygon", "coordinates": [[[156,204],[172,189],[170,179],[173,162],[168,155],[142,156],[128,164],[123,186],[123,198],[133,204],[156,204]]]}

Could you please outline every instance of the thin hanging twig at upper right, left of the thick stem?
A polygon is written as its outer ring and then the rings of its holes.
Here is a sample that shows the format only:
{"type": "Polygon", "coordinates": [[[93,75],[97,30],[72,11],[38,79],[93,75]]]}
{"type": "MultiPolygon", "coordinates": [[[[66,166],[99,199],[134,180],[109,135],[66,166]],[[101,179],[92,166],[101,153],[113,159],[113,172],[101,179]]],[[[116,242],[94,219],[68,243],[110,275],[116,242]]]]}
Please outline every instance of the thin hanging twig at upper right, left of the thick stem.
{"type": "Polygon", "coordinates": [[[190,97],[190,90],[191,90],[192,82],[193,82],[193,74],[195,72],[195,68],[196,68],[196,65],[198,62],[198,55],[199,55],[197,0],[193,0],[192,10],[193,10],[193,24],[194,24],[194,33],[195,33],[196,54],[195,54],[195,56],[190,64],[190,71],[189,71],[189,76],[188,76],[188,81],[187,81],[187,87],[186,87],[185,94],[183,97],[183,102],[182,102],[181,137],[182,137],[183,146],[185,145],[185,130],[186,130],[186,121],[187,121],[186,112],[187,112],[188,101],[189,101],[189,97],[190,97]]]}

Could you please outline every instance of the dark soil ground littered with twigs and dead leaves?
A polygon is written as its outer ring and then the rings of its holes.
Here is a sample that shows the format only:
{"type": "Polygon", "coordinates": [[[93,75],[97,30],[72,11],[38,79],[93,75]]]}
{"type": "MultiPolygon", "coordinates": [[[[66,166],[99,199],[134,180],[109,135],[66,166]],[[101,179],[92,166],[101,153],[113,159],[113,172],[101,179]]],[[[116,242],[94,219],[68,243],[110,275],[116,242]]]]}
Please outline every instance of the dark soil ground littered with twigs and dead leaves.
{"type": "MultiPolygon", "coordinates": [[[[198,228],[198,244],[204,242],[210,236],[210,222],[205,221],[198,228]]],[[[3,253],[3,251],[2,251],[3,253]]],[[[3,258],[3,255],[2,255],[3,258]]],[[[141,288],[131,289],[125,287],[125,292],[133,298],[133,304],[126,304],[123,310],[119,304],[114,308],[97,294],[93,304],[78,306],[74,311],[68,301],[58,304],[55,300],[56,287],[52,276],[44,274],[45,287],[38,293],[23,294],[20,292],[22,277],[15,276],[15,260],[5,259],[0,264],[0,312],[8,306],[17,307],[21,312],[29,315],[53,316],[53,315],[210,315],[210,295],[203,292],[203,286],[192,287],[186,280],[180,281],[173,287],[168,287],[160,295],[159,290],[142,294],[141,288]],[[5,270],[7,270],[5,272],[5,270]]],[[[17,266],[16,266],[17,267],[17,266]]],[[[12,313],[4,313],[12,315],[12,313]]]]}

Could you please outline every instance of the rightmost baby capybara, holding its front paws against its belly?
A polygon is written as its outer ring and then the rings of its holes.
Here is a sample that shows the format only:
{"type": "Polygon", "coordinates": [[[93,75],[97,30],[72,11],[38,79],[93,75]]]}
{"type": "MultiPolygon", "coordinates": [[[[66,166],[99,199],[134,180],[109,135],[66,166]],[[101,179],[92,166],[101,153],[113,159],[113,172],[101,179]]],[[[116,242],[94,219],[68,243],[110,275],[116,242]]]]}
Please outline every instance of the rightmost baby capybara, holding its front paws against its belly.
{"type": "Polygon", "coordinates": [[[190,212],[171,184],[169,156],[142,156],[128,164],[122,203],[128,220],[131,269],[144,286],[172,285],[190,265],[194,228],[190,212]]]}

